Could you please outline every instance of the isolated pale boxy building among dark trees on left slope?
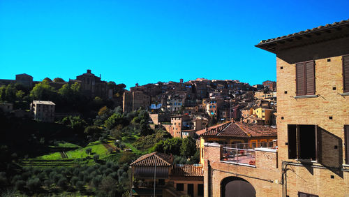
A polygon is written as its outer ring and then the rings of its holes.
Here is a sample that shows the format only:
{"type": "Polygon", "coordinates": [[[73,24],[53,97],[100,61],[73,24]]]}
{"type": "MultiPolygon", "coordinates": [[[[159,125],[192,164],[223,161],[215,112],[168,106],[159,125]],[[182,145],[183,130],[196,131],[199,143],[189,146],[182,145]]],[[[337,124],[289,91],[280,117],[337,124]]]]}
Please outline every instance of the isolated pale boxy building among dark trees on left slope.
{"type": "Polygon", "coordinates": [[[34,119],[41,122],[54,122],[54,108],[56,104],[52,101],[33,101],[30,104],[34,119]]]}

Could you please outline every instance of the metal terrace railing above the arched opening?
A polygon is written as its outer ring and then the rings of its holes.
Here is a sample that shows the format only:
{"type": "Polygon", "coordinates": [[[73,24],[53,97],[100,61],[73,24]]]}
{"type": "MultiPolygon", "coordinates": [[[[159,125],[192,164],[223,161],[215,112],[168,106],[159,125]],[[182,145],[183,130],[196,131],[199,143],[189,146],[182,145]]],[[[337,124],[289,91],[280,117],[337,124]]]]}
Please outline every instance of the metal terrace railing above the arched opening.
{"type": "Polygon", "coordinates": [[[223,147],[223,161],[232,161],[255,166],[255,150],[223,147]]]}

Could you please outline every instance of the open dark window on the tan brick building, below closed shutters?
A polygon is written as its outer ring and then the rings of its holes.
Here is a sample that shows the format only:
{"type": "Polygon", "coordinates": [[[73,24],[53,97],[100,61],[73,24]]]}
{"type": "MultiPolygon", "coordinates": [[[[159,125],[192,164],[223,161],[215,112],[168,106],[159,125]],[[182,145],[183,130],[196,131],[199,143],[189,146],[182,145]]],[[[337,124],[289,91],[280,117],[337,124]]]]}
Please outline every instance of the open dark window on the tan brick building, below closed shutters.
{"type": "Polygon", "coordinates": [[[288,125],[288,159],[318,161],[318,126],[288,125]]]}

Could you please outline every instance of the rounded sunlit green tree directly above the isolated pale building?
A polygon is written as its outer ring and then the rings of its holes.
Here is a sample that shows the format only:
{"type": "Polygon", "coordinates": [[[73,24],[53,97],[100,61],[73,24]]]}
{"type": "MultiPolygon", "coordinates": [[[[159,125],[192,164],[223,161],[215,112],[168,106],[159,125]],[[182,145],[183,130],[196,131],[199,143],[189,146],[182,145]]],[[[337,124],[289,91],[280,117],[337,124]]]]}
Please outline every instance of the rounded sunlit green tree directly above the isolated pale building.
{"type": "Polygon", "coordinates": [[[43,82],[36,84],[35,87],[31,90],[30,96],[32,99],[40,101],[53,101],[57,99],[54,88],[50,86],[47,80],[43,80],[43,82]]]}

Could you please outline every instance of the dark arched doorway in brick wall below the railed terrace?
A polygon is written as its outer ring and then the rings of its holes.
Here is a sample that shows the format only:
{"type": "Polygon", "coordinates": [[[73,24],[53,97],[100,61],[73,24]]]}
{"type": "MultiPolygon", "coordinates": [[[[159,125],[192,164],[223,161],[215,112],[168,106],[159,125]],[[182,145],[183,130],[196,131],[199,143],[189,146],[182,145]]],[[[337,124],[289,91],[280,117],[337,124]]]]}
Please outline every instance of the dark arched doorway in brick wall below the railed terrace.
{"type": "Polygon", "coordinates": [[[255,188],[240,177],[226,177],[221,182],[222,197],[255,197],[255,188]]]}

